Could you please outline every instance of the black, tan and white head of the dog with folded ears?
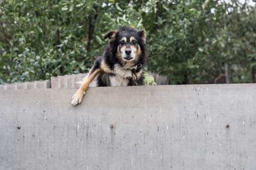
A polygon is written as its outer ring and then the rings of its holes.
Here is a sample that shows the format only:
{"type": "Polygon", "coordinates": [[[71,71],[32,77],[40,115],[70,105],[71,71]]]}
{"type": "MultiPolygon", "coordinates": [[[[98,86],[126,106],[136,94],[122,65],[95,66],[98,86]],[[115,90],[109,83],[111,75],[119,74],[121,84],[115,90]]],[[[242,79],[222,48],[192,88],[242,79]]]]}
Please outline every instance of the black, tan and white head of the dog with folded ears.
{"type": "Polygon", "coordinates": [[[122,27],[119,30],[108,32],[104,38],[108,38],[112,52],[116,54],[119,60],[130,62],[136,61],[144,50],[146,31],[122,27]]]}

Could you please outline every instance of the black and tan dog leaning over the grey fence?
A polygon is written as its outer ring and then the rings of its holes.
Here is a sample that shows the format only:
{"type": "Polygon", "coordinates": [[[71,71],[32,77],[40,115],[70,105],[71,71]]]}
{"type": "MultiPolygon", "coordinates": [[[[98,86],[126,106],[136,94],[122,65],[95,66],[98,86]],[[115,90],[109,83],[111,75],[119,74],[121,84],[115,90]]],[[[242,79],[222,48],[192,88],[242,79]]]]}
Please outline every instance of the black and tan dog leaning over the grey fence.
{"type": "Polygon", "coordinates": [[[95,78],[97,87],[143,85],[146,31],[123,27],[108,32],[104,38],[108,38],[109,44],[72,97],[72,105],[81,103],[90,82],[95,78]]]}

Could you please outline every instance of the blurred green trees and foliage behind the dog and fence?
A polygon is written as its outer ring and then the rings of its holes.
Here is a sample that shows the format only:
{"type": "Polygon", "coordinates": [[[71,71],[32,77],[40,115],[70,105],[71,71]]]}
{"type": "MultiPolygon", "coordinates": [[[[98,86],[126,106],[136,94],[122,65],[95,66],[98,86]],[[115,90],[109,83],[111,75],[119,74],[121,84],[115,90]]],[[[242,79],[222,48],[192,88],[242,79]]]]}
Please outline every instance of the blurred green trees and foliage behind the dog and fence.
{"type": "Polygon", "coordinates": [[[225,65],[229,83],[255,83],[253,1],[0,0],[0,84],[86,73],[120,26],[145,28],[146,70],[170,84],[214,83],[225,65]]]}

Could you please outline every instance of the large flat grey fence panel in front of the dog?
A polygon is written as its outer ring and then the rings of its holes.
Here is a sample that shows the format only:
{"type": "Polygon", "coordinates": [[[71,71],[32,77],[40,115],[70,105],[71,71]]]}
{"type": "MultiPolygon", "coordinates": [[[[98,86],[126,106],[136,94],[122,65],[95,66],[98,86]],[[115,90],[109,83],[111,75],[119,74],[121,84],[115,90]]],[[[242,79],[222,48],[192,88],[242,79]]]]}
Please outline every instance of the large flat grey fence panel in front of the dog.
{"type": "Polygon", "coordinates": [[[255,84],[76,91],[0,91],[1,170],[255,169],[255,84]]]}

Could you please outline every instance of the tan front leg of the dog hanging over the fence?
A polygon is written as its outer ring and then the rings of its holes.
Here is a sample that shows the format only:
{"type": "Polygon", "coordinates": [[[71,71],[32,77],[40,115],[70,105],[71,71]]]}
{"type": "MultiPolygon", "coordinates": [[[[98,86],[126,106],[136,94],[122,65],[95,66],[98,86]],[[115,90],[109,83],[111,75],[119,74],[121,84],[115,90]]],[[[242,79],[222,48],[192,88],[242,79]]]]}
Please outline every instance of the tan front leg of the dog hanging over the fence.
{"type": "Polygon", "coordinates": [[[100,68],[93,70],[93,68],[90,70],[88,76],[84,79],[84,81],[82,82],[81,87],[79,88],[79,90],[76,92],[76,94],[74,94],[74,96],[72,97],[72,105],[77,105],[80,104],[83,96],[85,94],[85,91],[88,89],[90,82],[93,81],[93,79],[95,79],[95,77],[99,74],[99,72],[101,71],[100,68]]]}

